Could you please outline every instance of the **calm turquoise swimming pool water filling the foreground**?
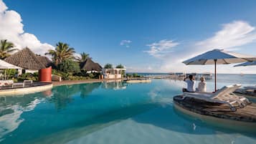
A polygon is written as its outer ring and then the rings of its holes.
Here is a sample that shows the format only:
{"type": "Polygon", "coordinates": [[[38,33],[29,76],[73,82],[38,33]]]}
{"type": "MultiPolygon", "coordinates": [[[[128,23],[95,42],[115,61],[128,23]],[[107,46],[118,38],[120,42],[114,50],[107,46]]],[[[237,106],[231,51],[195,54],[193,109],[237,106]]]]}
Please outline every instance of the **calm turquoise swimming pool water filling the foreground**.
{"type": "Polygon", "coordinates": [[[172,97],[181,87],[173,80],[100,82],[0,97],[0,143],[256,143],[256,133],[176,110],[172,97]]]}

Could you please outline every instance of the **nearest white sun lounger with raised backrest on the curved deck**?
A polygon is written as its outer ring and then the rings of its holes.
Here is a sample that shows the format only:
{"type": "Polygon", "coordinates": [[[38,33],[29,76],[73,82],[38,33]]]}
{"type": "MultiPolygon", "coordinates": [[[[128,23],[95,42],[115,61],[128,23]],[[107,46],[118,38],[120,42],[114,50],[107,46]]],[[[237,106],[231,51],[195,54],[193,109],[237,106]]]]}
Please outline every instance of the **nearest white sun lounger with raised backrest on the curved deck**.
{"type": "Polygon", "coordinates": [[[237,90],[241,85],[229,85],[224,86],[217,92],[184,92],[184,98],[192,97],[197,100],[204,100],[206,102],[217,102],[221,104],[229,105],[232,111],[236,111],[234,104],[240,105],[240,107],[245,107],[250,103],[245,97],[239,97],[234,95],[234,90],[237,90]]]}

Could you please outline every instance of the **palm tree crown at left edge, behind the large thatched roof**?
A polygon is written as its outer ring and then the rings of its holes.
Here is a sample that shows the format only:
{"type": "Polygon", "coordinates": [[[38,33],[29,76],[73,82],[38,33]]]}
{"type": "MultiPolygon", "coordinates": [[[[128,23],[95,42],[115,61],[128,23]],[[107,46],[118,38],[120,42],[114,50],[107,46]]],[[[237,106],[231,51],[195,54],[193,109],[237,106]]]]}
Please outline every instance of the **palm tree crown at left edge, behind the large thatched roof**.
{"type": "Polygon", "coordinates": [[[8,42],[7,39],[1,40],[0,43],[0,59],[5,59],[9,57],[11,54],[10,52],[14,52],[18,49],[13,49],[14,44],[12,42],[8,42]]]}

